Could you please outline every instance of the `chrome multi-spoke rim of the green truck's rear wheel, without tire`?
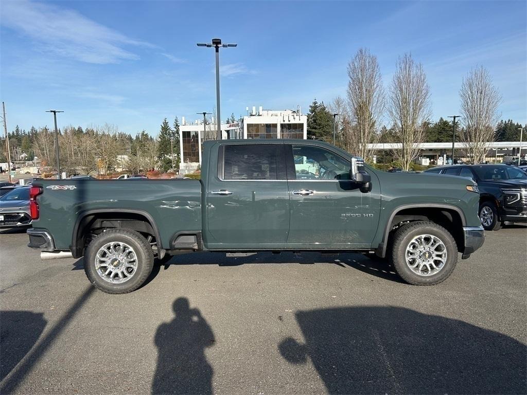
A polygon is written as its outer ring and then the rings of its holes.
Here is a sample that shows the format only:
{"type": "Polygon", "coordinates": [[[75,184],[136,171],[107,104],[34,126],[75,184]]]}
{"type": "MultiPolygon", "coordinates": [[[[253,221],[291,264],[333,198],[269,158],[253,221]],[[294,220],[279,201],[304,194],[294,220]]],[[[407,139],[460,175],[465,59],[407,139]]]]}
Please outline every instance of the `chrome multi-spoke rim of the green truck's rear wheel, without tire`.
{"type": "Polygon", "coordinates": [[[137,255],[123,242],[104,244],[95,256],[95,270],[104,281],[120,284],[130,280],[137,271],[137,255]]]}

